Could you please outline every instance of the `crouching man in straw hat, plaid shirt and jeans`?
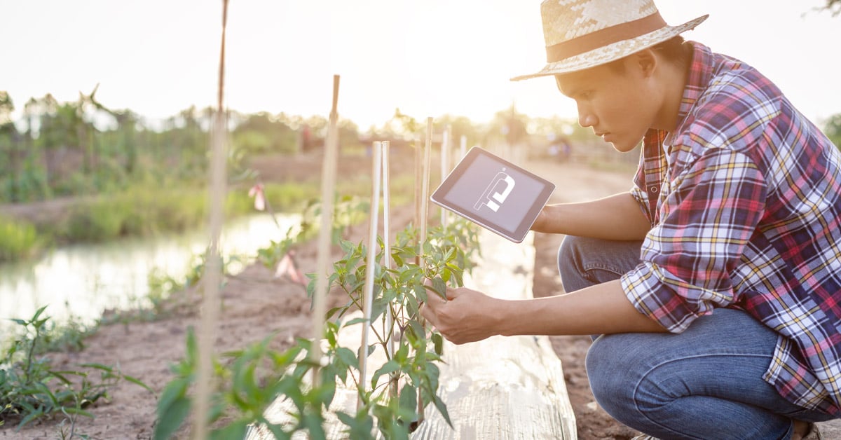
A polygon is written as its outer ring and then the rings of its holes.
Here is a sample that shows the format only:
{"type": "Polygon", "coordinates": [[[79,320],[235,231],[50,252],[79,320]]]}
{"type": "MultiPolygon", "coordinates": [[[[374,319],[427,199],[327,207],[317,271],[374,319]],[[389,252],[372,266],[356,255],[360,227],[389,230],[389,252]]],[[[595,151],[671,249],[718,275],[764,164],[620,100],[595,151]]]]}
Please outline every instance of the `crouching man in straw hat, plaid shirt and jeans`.
{"type": "Polygon", "coordinates": [[[650,0],[547,0],[579,124],[642,155],[628,193],[542,210],[568,294],[472,289],[422,313],[452,342],[601,335],[590,386],[661,438],[816,437],[841,417],[841,154],[753,67],[684,41],[650,0]]]}

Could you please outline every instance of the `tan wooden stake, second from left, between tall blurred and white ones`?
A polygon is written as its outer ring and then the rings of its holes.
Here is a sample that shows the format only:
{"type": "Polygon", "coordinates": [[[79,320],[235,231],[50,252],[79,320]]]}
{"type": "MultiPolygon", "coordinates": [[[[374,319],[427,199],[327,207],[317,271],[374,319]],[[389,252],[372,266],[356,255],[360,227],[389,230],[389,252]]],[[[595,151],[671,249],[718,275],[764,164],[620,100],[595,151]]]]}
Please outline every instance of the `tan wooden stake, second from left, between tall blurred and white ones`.
{"type": "Polygon", "coordinates": [[[313,295],[313,346],[309,348],[309,360],[314,363],[313,386],[320,384],[321,337],[324,335],[325,296],[327,295],[327,266],[330,264],[330,241],[333,228],[333,193],[336,190],[336,156],[339,149],[339,135],[336,126],[339,114],[339,76],[333,75],[333,105],[330,111],[330,126],[325,141],[324,163],[321,166],[321,225],[318,241],[318,272],[313,295]]]}

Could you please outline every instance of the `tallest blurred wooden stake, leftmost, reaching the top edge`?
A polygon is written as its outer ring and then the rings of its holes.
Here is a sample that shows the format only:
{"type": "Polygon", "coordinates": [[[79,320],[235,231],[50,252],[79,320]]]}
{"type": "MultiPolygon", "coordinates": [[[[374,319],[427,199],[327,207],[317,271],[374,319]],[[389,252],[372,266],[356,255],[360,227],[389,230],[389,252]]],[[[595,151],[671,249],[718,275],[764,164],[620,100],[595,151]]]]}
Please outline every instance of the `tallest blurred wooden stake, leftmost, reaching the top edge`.
{"type": "Polygon", "coordinates": [[[210,159],[209,232],[210,242],[204,273],[204,300],[198,331],[198,374],[196,378],[195,412],[193,413],[193,438],[204,440],[207,435],[210,390],[213,373],[213,346],[216,339],[216,321],[219,321],[219,286],[222,280],[220,236],[222,234],[222,208],[225,200],[225,27],[228,24],[228,0],[222,1],[222,39],[219,56],[219,87],[216,118],[210,159]]]}

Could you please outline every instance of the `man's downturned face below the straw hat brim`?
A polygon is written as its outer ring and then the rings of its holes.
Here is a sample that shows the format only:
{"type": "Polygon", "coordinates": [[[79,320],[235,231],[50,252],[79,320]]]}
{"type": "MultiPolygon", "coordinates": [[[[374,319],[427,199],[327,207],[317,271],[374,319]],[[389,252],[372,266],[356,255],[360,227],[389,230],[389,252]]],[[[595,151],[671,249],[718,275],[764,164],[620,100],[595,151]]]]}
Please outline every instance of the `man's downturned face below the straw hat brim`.
{"type": "Polygon", "coordinates": [[[633,56],[580,72],[556,75],[558,89],[578,106],[579,124],[613,144],[616,151],[631,151],[652,127],[656,93],[646,69],[633,56]]]}

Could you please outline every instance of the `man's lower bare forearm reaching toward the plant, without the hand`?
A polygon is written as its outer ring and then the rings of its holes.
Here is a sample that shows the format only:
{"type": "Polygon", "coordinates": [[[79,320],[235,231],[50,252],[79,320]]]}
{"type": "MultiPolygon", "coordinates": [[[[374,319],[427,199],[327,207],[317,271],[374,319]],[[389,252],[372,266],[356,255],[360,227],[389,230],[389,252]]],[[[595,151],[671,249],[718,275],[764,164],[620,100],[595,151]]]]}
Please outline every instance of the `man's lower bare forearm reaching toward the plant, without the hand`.
{"type": "Polygon", "coordinates": [[[571,294],[534,300],[500,300],[499,334],[593,335],[665,331],[636,310],[619,280],[571,294]]]}

